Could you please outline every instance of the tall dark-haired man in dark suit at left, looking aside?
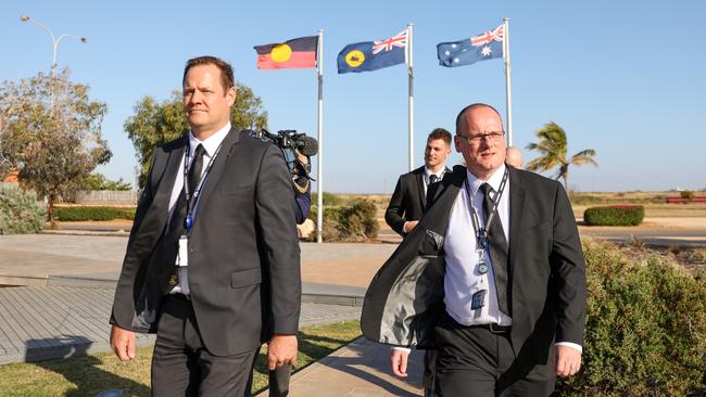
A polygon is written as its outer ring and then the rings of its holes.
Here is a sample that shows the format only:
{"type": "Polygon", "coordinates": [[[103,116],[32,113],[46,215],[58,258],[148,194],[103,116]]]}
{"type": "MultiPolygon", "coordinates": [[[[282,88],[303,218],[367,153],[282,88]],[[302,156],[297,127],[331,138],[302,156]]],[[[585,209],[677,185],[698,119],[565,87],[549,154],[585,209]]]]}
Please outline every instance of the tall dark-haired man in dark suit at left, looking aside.
{"type": "Polygon", "coordinates": [[[294,363],[301,304],[291,178],[280,150],[230,127],[232,68],[201,56],[184,72],[191,132],[155,149],[115,291],[111,346],[135,358],[156,332],[154,396],[250,394],[294,363]]]}

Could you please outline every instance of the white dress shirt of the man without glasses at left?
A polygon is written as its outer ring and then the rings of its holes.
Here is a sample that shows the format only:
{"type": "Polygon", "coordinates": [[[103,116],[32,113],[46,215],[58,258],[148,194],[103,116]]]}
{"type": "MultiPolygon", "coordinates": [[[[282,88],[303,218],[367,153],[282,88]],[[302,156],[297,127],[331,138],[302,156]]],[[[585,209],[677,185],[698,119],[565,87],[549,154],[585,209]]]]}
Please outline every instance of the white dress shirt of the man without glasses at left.
{"type": "MultiPolygon", "coordinates": [[[[201,177],[203,177],[207,168],[206,165],[209,164],[209,162],[211,162],[211,158],[215,155],[216,150],[220,145],[220,142],[223,142],[223,140],[228,135],[228,131],[230,131],[230,121],[228,121],[222,129],[216,131],[216,133],[212,135],[211,137],[206,138],[203,141],[197,139],[197,137],[194,137],[192,132],[189,132],[189,156],[190,156],[190,158],[188,158],[189,168],[191,168],[191,162],[193,162],[193,153],[196,152],[197,146],[199,146],[199,144],[203,145],[203,149],[205,150],[205,152],[203,153],[203,167],[201,168],[201,177]]],[[[186,151],[184,156],[186,156],[186,151]]],[[[184,156],[181,156],[181,161],[179,163],[179,171],[177,172],[176,180],[174,181],[174,188],[172,189],[172,196],[169,197],[169,214],[167,219],[172,219],[172,213],[174,213],[174,207],[176,206],[176,202],[179,198],[179,194],[181,194],[181,190],[184,189],[184,156]]],[[[193,190],[196,189],[197,187],[189,187],[191,194],[193,194],[193,190]]],[[[196,219],[198,219],[197,216],[198,205],[199,205],[198,202],[194,203],[194,208],[191,214],[193,216],[194,221],[196,219]]],[[[177,262],[175,264],[175,266],[178,266],[178,260],[179,258],[177,257],[177,262]]],[[[171,294],[178,293],[178,294],[188,295],[190,293],[188,269],[189,269],[188,266],[179,267],[178,269],[179,283],[169,292],[171,294]]]]}

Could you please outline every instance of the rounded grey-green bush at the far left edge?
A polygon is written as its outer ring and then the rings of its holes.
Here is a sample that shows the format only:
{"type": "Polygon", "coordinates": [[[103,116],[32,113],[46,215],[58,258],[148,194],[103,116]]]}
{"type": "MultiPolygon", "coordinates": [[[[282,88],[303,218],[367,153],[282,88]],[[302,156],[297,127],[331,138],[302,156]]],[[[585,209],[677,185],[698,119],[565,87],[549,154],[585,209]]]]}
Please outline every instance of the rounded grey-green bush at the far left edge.
{"type": "Polygon", "coordinates": [[[0,183],[0,234],[39,232],[47,218],[47,206],[33,190],[17,183],[0,183]]]}

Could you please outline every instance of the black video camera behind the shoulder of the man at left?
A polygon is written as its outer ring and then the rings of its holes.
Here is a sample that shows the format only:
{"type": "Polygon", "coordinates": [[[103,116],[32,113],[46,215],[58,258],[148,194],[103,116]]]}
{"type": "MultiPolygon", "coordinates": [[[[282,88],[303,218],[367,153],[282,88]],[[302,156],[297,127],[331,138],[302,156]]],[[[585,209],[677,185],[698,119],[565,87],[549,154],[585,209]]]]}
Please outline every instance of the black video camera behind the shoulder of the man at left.
{"type": "Polygon", "coordinates": [[[318,153],[318,142],[316,139],[307,137],[304,132],[297,132],[293,129],[279,130],[272,133],[266,129],[249,130],[251,137],[259,138],[263,141],[273,142],[282,151],[287,168],[292,176],[294,188],[302,194],[308,190],[310,180],[315,180],[310,175],[312,170],[311,156],[318,153]],[[307,163],[304,164],[299,159],[299,155],[306,156],[307,163]]]}

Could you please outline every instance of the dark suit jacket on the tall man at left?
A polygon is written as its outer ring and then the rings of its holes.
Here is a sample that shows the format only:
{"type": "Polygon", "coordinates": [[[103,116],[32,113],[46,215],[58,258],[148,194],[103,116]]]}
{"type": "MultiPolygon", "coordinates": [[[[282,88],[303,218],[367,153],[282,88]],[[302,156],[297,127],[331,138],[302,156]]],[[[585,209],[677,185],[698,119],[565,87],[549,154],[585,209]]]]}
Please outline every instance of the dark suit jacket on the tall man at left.
{"type": "MultiPolygon", "coordinates": [[[[188,137],[155,149],[115,291],[111,322],[155,332],[176,273],[162,242],[188,137]]],[[[204,183],[189,239],[189,289],[205,347],[253,349],[272,333],[295,334],[301,304],[293,191],[281,152],[231,129],[204,183]]]]}

